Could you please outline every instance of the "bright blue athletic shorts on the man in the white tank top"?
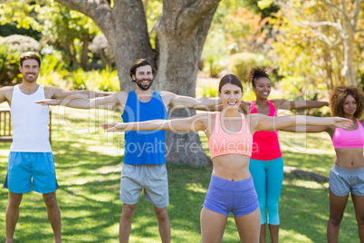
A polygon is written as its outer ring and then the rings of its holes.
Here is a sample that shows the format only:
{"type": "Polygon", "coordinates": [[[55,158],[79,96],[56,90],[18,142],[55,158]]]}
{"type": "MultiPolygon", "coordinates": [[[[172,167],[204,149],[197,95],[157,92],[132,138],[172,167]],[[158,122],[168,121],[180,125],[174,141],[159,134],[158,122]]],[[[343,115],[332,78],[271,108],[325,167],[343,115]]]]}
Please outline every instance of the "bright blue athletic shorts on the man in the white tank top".
{"type": "Polygon", "coordinates": [[[57,190],[53,153],[11,151],[4,187],[19,194],[31,190],[39,193],[57,190]]]}

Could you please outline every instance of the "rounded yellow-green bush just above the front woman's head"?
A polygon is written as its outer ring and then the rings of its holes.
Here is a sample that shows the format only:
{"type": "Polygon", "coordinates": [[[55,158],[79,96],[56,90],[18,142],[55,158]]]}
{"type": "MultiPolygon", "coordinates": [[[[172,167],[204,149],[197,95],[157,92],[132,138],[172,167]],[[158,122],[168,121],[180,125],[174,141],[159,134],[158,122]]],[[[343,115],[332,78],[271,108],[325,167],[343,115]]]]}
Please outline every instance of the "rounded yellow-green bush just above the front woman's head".
{"type": "Polygon", "coordinates": [[[259,65],[259,63],[254,53],[235,53],[230,56],[229,69],[242,82],[245,81],[249,70],[256,65],[259,65]]]}

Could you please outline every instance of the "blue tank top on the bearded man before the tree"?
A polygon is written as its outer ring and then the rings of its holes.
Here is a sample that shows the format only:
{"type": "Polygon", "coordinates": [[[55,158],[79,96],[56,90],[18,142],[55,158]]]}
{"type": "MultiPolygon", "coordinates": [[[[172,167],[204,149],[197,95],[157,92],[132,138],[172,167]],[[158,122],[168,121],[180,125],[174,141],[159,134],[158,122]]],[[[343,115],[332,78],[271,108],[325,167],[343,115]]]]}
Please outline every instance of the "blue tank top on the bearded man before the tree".
{"type": "MultiPolygon", "coordinates": [[[[121,118],[124,122],[166,120],[168,112],[158,92],[153,92],[149,102],[140,102],[131,91],[121,118]]],[[[166,131],[125,131],[124,164],[165,164],[165,141],[166,131]]]]}

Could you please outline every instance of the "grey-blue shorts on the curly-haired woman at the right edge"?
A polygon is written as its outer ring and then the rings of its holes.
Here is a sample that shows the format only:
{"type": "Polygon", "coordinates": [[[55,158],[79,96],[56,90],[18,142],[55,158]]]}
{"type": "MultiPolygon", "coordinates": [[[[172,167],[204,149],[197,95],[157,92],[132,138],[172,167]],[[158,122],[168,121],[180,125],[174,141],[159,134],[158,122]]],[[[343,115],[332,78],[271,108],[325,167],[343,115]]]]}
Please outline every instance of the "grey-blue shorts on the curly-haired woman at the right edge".
{"type": "Polygon", "coordinates": [[[336,196],[347,196],[350,192],[357,196],[364,196],[364,167],[346,169],[337,165],[332,166],[329,187],[336,196]]]}

